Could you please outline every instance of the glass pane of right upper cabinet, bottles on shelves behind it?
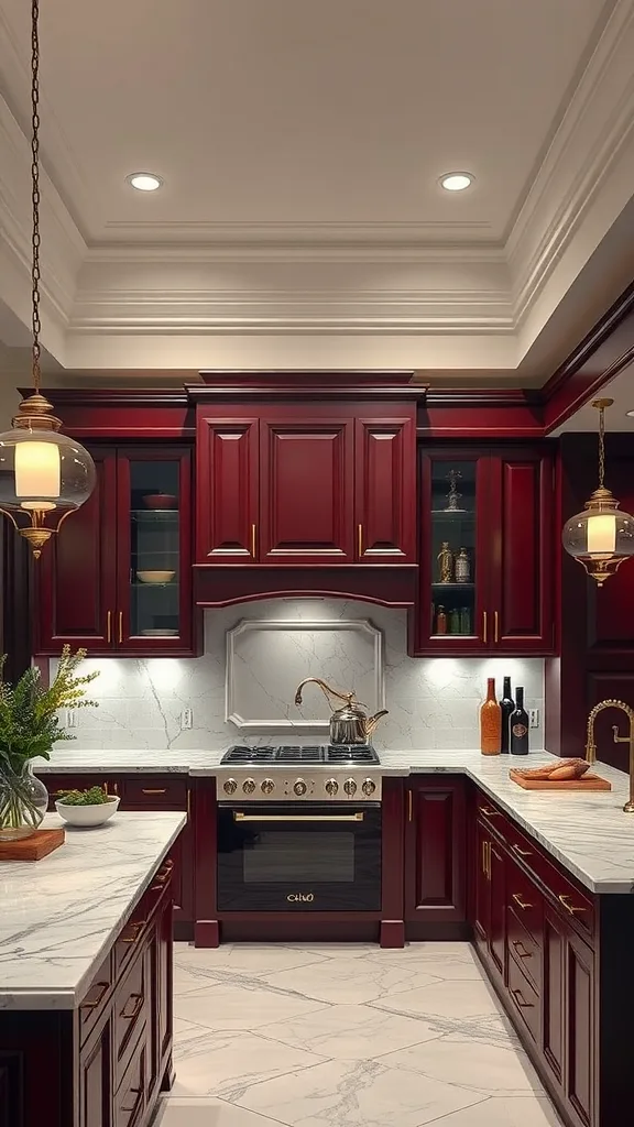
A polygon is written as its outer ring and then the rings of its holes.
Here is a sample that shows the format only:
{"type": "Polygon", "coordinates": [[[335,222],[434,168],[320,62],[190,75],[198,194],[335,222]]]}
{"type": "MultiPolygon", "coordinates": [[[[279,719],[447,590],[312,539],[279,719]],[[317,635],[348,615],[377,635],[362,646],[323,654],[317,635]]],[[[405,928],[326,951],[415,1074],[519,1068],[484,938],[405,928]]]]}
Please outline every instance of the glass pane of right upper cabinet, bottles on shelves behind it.
{"type": "Polygon", "coordinates": [[[476,462],[432,461],[431,633],[475,636],[476,462]]]}

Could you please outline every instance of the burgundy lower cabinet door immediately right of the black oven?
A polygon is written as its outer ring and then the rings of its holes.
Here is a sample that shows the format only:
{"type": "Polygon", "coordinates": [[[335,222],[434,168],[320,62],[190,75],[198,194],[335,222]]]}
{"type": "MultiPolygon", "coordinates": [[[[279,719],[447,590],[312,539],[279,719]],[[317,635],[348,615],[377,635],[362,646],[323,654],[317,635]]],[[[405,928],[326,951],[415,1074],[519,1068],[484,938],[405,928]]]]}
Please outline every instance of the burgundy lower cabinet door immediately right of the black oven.
{"type": "MultiPolygon", "coordinates": [[[[408,780],[405,921],[423,925],[466,920],[465,780],[408,780]]],[[[408,930],[412,934],[412,930],[408,930]]],[[[415,935],[413,935],[415,938],[415,935]]]]}

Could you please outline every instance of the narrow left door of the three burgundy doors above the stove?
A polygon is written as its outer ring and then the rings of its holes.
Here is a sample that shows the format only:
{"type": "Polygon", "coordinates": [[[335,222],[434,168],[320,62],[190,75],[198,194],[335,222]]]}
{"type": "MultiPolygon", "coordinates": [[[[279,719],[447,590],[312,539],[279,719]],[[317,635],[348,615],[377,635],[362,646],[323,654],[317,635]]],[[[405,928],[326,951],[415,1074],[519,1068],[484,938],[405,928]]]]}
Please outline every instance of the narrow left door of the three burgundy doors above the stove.
{"type": "Polygon", "coordinates": [[[208,418],[196,424],[196,560],[249,564],[258,524],[258,421],[208,418]]]}

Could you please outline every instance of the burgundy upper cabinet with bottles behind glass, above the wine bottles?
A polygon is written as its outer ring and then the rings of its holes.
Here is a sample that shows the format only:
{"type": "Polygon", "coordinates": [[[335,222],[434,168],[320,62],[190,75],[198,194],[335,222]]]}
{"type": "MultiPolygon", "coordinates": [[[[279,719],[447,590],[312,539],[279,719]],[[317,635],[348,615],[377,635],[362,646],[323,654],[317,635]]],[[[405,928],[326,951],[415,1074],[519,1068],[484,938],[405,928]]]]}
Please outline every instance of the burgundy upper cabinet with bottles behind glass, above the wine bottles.
{"type": "Polygon", "coordinates": [[[415,653],[554,647],[554,462],[548,449],[425,449],[415,653]]]}

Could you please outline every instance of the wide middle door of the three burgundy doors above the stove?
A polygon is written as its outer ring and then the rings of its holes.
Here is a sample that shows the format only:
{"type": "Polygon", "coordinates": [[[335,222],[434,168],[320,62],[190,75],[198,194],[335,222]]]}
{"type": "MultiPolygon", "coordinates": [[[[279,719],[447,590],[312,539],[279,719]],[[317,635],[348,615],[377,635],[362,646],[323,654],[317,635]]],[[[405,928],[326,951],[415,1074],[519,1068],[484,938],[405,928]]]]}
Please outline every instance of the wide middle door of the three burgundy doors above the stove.
{"type": "Polygon", "coordinates": [[[261,560],[352,562],[352,420],[261,426],[261,560]]]}

